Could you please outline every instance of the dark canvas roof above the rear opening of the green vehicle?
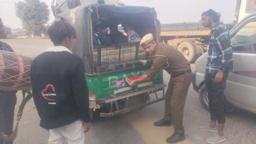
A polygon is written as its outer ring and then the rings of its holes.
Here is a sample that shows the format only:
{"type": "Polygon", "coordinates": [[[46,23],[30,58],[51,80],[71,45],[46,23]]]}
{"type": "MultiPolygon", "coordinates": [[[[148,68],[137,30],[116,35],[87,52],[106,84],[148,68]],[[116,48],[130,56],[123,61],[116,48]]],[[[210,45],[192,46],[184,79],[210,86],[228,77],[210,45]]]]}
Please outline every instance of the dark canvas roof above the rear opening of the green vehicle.
{"type": "Polygon", "coordinates": [[[136,26],[154,26],[157,14],[153,8],[144,6],[93,5],[91,18],[93,23],[106,25],[129,22],[136,26]]]}

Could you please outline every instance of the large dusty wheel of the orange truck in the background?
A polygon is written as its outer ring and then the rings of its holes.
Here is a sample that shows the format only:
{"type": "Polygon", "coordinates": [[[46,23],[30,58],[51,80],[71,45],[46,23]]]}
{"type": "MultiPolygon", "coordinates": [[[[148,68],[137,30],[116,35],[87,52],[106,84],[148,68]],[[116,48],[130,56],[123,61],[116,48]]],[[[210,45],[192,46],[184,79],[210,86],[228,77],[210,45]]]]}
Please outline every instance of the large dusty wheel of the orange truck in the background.
{"type": "Polygon", "coordinates": [[[190,63],[195,62],[197,59],[197,46],[192,41],[184,41],[178,46],[178,50],[184,55],[184,57],[190,63]]]}

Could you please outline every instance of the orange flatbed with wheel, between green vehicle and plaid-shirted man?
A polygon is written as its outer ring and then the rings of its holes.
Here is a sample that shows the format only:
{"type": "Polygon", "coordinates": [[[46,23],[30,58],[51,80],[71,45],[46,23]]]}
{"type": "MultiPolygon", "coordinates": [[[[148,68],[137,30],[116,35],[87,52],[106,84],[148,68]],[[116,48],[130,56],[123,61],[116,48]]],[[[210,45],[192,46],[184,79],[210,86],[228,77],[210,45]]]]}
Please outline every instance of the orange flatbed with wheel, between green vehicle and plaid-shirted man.
{"type": "Polygon", "coordinates": [[[209,33],[199,22],[161,24],[161,41],[181,51],[190,63],[207,51],[209,33]]]}

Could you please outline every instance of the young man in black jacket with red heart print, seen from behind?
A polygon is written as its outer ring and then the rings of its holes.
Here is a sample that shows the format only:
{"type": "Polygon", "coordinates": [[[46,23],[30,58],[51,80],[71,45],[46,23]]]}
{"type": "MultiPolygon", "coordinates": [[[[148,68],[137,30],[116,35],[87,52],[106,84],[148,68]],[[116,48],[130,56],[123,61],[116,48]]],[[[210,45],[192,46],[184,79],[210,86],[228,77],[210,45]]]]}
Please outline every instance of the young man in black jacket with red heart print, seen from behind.
{"type": "Polygon", "coordinates": [[[33,98],[40,126],[49,129],[49,144],[82,144],[90,130],[89,92],[83,61],[71,53],[74,27],[61,20],[48,29],[53,47],[38,55],[31,65],[33,98]]]}

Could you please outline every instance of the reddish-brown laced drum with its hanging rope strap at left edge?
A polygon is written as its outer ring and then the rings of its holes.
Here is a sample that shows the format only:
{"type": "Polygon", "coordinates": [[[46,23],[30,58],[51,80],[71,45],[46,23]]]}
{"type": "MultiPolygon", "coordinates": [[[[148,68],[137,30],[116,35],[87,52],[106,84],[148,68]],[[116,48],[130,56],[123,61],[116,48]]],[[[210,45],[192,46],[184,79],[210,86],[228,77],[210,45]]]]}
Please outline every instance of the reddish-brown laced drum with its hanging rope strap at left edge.
{"type": "Polygon", "coordinates": [[[30,66],[33,58],[17,53],[0,50],[0,91],[22,90],[23,99],[17,114],[17,123],[13,133],[8,137],[0,131],[0,139],[12,142],[18,134],[18,124],[22,117],[26,103],[32,98],[30,66]],[[27,93],[27,96],[25,97],[27,93]]]}

